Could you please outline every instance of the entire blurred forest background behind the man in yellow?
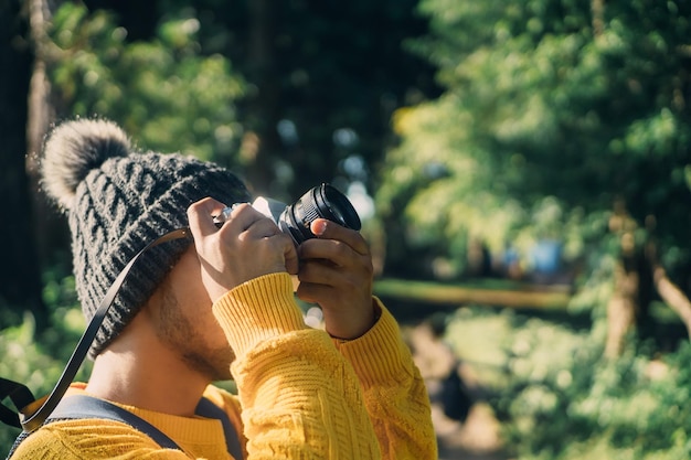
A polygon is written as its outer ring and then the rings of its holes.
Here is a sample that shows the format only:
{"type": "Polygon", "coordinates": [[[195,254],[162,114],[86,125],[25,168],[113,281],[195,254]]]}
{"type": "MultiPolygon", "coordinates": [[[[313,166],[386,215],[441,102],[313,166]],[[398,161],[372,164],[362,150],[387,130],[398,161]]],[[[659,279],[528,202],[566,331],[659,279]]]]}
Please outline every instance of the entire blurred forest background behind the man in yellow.
{"type": "Polygon", "coordinates": [[[38,162],[52,124],[99,116],[256,194],[348,194],[440,458],[688,459],[690,21],[687,0],[1,1],[0,375],[47,393],[84,329],[38,162]]]}

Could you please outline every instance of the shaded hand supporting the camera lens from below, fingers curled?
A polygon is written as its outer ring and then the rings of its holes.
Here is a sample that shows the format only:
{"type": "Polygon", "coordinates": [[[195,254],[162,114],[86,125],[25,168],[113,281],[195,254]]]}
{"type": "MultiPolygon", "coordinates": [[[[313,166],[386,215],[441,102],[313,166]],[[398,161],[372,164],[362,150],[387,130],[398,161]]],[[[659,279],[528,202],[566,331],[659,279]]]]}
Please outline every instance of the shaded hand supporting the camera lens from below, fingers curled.
{"type": "Polygon", "coordinates": [[[326,329],[339,339],[355,339],[374,324],[372,255],[359,232],[325,218],[312,222],[317,238],[298,248],[300,299],[318,303],[326,329]]]}

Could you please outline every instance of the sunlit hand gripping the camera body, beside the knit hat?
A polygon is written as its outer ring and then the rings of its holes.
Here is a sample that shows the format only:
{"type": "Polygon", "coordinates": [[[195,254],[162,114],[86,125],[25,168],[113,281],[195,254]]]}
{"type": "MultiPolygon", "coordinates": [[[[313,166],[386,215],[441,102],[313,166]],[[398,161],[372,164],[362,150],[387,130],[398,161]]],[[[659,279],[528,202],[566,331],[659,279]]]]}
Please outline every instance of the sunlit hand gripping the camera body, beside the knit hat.
{"type": "Polygon", "coordinates": [[[204,199],[188,208],[202,281],[212,301],[263,275],[297,274],[293,240],[270,218],[243,203],[233,208],[230,218],[219,228],[212,216],[224,207],[221,202],[204,199]]]}

